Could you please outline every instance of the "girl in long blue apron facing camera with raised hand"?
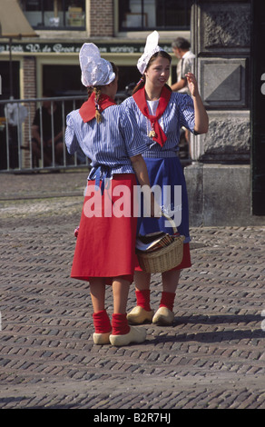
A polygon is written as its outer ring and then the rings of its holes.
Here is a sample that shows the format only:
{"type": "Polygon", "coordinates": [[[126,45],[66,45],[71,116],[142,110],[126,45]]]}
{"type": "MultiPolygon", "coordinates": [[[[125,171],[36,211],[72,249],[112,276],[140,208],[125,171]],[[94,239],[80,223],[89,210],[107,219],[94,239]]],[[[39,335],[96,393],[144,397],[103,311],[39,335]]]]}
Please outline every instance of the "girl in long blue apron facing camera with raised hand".
{"type": "MultiPolygon", "coordinates": [[[[181,270],[191,267],[188,196],[178,157],[180,133],[182,126],[192,134],[206,133],[208,115],[193,74],[186,75],[191,96],[172,93],[166,84],[172,58],[162,50],[158,41],[156,31],[147,37],[144,53],[137,64],[142,78],[132,96],[123,101],[123,106],[129,107],[135,115],[142,141],[148,147],[142,156],[151,186],[158,185],[162,189],[162,210],[177,221],[178,232],[185,236],[182,263],[162,273],[162,298],[155,314],[150,305],[151,274],[142,272],[139,265],[135,268],[136,306],[128,314],[128,320],[135,324],[152,322],[163,325],[171,324],[174,318],[173,305],[181,270]],[[181,193],[175,191],[178,186],[181,186],[181,193]],[[167,191],[163,191],[165,189],[167,191]]],[[[140,234],[158,231],[172,232],[163,216],[159,219],[141,217],[140,234]]]]}

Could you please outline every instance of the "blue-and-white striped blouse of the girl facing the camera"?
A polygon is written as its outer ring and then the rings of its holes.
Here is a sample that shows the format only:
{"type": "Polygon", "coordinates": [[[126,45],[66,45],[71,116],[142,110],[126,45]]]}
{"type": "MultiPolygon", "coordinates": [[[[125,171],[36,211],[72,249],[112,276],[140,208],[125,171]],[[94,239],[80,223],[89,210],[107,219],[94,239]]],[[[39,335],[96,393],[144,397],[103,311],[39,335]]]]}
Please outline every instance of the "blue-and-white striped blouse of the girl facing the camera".
{"type": "Polygon", "coordinates": [[[194,106],[192,98],[188,94],[172,92],[169,104],[162,114],[162,117],[159,119],[159,124],[161,124],[162,129],[167,136],[167,140],[163,147],[152,141],[148,136],[151,131],[150,121],[141,113],[132,96],[125,99],[121,105],[124,109],[129,107],[136,117],[142,138],[148,146],[146,152],[142,154],[144,157],[166,157],[176,155],[179,151],[182,126],[194,133],[194,106]]]}

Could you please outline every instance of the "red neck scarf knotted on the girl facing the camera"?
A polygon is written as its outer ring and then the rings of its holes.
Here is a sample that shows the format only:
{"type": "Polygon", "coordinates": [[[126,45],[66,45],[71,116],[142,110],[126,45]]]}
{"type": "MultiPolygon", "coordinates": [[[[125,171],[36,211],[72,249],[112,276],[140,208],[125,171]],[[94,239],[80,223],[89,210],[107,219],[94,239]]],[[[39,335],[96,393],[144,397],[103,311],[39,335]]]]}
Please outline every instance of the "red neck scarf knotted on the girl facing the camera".
{"type": "Polygon", "coordinates": [[[144,86],[135,94],[132,94],[132,97],[142,114],[145,115],[145,117],[147,117],[151,122],[152,132],[149,134],[149,136],[152,137],[153,141],[160,144],[161,146],[163,146],[163,144],[166,142],[167,137],[166,134],[164,134],[161,125],[158,123],[158,120],[165,111],[171,95],[172,92],[166,86],[163,86],[162,93],[159,98],[159,104],[156,109],[156,114],[150,115],[148,105],[146,103],[144,86]]]}

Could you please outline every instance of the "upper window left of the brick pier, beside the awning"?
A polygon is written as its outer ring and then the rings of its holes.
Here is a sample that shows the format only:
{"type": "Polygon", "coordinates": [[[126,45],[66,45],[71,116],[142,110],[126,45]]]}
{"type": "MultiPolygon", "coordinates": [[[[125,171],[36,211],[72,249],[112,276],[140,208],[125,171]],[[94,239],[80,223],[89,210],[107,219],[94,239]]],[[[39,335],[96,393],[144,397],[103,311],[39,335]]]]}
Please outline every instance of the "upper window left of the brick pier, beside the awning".
{"type": "Polygon", "coordinates": [[[83,30],[85,0],[20,0],[34,29],[83,30]]]}

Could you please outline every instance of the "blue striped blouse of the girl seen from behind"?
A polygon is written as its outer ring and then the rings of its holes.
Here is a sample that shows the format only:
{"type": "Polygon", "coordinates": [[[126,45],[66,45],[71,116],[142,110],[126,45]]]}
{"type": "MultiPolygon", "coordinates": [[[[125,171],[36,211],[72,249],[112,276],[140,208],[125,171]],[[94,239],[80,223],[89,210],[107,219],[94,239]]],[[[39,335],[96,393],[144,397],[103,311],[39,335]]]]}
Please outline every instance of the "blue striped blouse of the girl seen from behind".
{"type": "Polygon", "coordinates": [[[133,174],[130,157],[146,151],[146,144],[138,129],[133,114],[128,108],[112,105],[103,110],[102,123],[94,118],[83,123],[79,110],[66,117],[65,144],[69,154],[78,147],[90,160],[92,170],[88,179],[94,179],[102,166],[113,174],[133,174]]]}

